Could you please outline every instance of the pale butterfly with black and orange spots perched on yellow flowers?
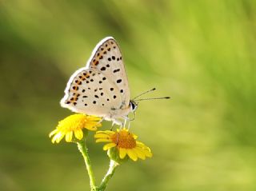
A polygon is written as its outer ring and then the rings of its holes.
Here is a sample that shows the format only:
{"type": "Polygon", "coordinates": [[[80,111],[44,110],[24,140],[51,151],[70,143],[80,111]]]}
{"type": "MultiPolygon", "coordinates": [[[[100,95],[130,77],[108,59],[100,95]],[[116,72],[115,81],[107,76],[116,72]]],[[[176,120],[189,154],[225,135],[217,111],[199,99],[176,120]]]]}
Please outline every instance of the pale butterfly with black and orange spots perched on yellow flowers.
{"type": "Polygon", "coordinates": [[[124,125],[126,120],[130,120],[128,114],[137,109],[138,100],[130,100],[126,68],[114,38],[107,37],[98,42],[86,67],[70,77],[61,105],[117,125],[124,125]]]}

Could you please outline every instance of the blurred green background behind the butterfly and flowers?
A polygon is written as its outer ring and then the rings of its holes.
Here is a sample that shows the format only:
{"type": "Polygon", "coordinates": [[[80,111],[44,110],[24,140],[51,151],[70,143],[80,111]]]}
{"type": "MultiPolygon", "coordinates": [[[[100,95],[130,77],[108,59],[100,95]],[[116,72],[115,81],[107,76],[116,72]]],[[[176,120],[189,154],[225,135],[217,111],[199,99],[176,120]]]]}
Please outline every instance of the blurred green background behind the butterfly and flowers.
{"type": "MultiPolygon", "coordinates": [[[[119,167],[107,190],[256,190],[254,0],[2,0],[0,190],[89,190],[76,145],[48,133],[71,113],[59,105],[70,75],[106,36],[133,96],[172,97],[141,102],[131,128],[154,157],[119,167]]],[[[88,144],[99,183],[108,159],[88,144]]]]}

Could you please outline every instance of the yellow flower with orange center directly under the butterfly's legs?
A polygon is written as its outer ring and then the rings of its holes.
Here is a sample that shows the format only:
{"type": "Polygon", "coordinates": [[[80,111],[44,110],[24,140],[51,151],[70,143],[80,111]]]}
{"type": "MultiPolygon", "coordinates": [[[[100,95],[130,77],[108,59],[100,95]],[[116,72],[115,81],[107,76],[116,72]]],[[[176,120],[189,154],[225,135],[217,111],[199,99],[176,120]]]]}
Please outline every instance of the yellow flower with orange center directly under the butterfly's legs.
{"type": "Polygon", "coordinates": [[[145,160],[146,157],[152,157],[150,148],[140,141],[136,141],[137,136],[130,133],[127,129],[121,129],[117,132],[106,130],[98,131],[94,137],[96,142],[108,142],[103,146],[104,150],[116,148],[118,150],[118,157],[125,158],[126,155],[133,161],[138,158],[145,160]]]}

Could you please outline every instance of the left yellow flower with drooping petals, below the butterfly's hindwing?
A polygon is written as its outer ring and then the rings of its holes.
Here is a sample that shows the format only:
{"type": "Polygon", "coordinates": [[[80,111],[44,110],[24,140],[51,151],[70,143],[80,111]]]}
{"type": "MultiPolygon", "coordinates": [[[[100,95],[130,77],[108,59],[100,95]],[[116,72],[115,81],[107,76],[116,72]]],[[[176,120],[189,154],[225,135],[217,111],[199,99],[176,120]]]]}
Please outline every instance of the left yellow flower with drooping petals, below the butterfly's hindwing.
{"type": "Polygon", "coordinates": [[[83,137],[82,129],[97,130],[97,127],[101,126],[100,120],[100,117],[73,114],[59,121],[58,126],[50,132],[49,137],[53,137],[52,143],[59,143],[64,136],[66,136],[67,142],[71,142],[73,135],[76,139],[81,140],[83,137]]]}

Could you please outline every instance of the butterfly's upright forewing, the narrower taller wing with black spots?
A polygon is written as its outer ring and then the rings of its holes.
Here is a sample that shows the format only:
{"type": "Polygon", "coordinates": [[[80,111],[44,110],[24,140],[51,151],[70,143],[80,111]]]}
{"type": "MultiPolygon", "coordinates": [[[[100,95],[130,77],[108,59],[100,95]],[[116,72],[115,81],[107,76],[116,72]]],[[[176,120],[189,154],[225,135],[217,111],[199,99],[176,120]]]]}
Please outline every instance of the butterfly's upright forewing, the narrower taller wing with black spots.
{"type": "Polygon", "coordinates": [[[117,86],[122,108],[129,105],[130,89],[126,69],[122,61],[121,50],[114,38],[104,38],[98,43],[87,62],[86,68],[101,71],[111,83],[117,86]]]}

